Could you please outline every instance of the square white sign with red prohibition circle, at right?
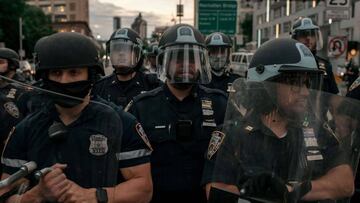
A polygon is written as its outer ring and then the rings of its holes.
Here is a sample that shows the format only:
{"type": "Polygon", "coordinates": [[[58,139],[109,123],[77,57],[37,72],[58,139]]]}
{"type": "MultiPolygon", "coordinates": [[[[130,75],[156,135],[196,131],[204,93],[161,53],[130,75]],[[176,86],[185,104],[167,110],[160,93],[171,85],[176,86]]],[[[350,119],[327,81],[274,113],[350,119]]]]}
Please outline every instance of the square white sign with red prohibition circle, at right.
{"type": "Polygon", "coordinates": [[[347,51],[347,36],[329,36],[328,37],[328,56],[345,57],[347,51]]]}

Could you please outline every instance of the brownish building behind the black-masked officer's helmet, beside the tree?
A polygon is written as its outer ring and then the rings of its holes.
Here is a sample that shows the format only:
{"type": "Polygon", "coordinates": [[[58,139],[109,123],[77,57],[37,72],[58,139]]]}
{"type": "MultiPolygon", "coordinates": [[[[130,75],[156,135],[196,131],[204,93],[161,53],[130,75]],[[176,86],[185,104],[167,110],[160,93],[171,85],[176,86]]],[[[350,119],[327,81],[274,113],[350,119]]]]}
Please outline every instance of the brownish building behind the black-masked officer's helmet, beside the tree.
{"type": "Polygon", "coordinates": [[[26,3],[41,8],[49,15],[54,30],[92,36],[88,0],[26,0],[26,3]]]}

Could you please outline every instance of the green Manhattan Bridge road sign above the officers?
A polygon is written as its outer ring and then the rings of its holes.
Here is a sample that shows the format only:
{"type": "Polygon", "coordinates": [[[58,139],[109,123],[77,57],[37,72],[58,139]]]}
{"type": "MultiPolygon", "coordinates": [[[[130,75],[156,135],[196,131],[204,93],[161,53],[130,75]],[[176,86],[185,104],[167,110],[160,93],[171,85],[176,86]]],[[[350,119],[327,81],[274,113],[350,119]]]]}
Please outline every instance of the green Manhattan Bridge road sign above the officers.
{"type": "Polygon", "coordinates": [[[198,1],[198,26],[203,34],[223,32],[227,35],[234,35],[236,33],[236,21],[236,1],[198,1]]]}

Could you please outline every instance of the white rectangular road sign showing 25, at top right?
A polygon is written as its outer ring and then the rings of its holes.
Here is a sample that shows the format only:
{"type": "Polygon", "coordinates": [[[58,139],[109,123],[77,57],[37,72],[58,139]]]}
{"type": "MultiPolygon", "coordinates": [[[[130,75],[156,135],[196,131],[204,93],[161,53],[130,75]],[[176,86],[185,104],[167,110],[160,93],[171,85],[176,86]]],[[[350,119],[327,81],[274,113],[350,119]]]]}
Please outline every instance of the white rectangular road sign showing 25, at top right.
{"type": "Polygon", "coordinates": [[[350,18],[350,0],[326,0],[326,19],[346,20],[350,18]]]}

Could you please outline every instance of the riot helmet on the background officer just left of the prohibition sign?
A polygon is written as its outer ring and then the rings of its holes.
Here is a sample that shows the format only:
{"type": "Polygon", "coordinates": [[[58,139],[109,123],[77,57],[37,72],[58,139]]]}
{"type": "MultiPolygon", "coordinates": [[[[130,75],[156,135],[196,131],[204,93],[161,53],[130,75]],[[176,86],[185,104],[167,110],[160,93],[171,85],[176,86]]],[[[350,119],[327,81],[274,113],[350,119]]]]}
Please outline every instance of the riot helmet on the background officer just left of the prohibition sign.
{"type": "Polygon", "coordinates": [[[299,18],[292,26],[291,37],[305,44],[313,54],[323,48],[321,30],[311,18],[299,18]]]}

